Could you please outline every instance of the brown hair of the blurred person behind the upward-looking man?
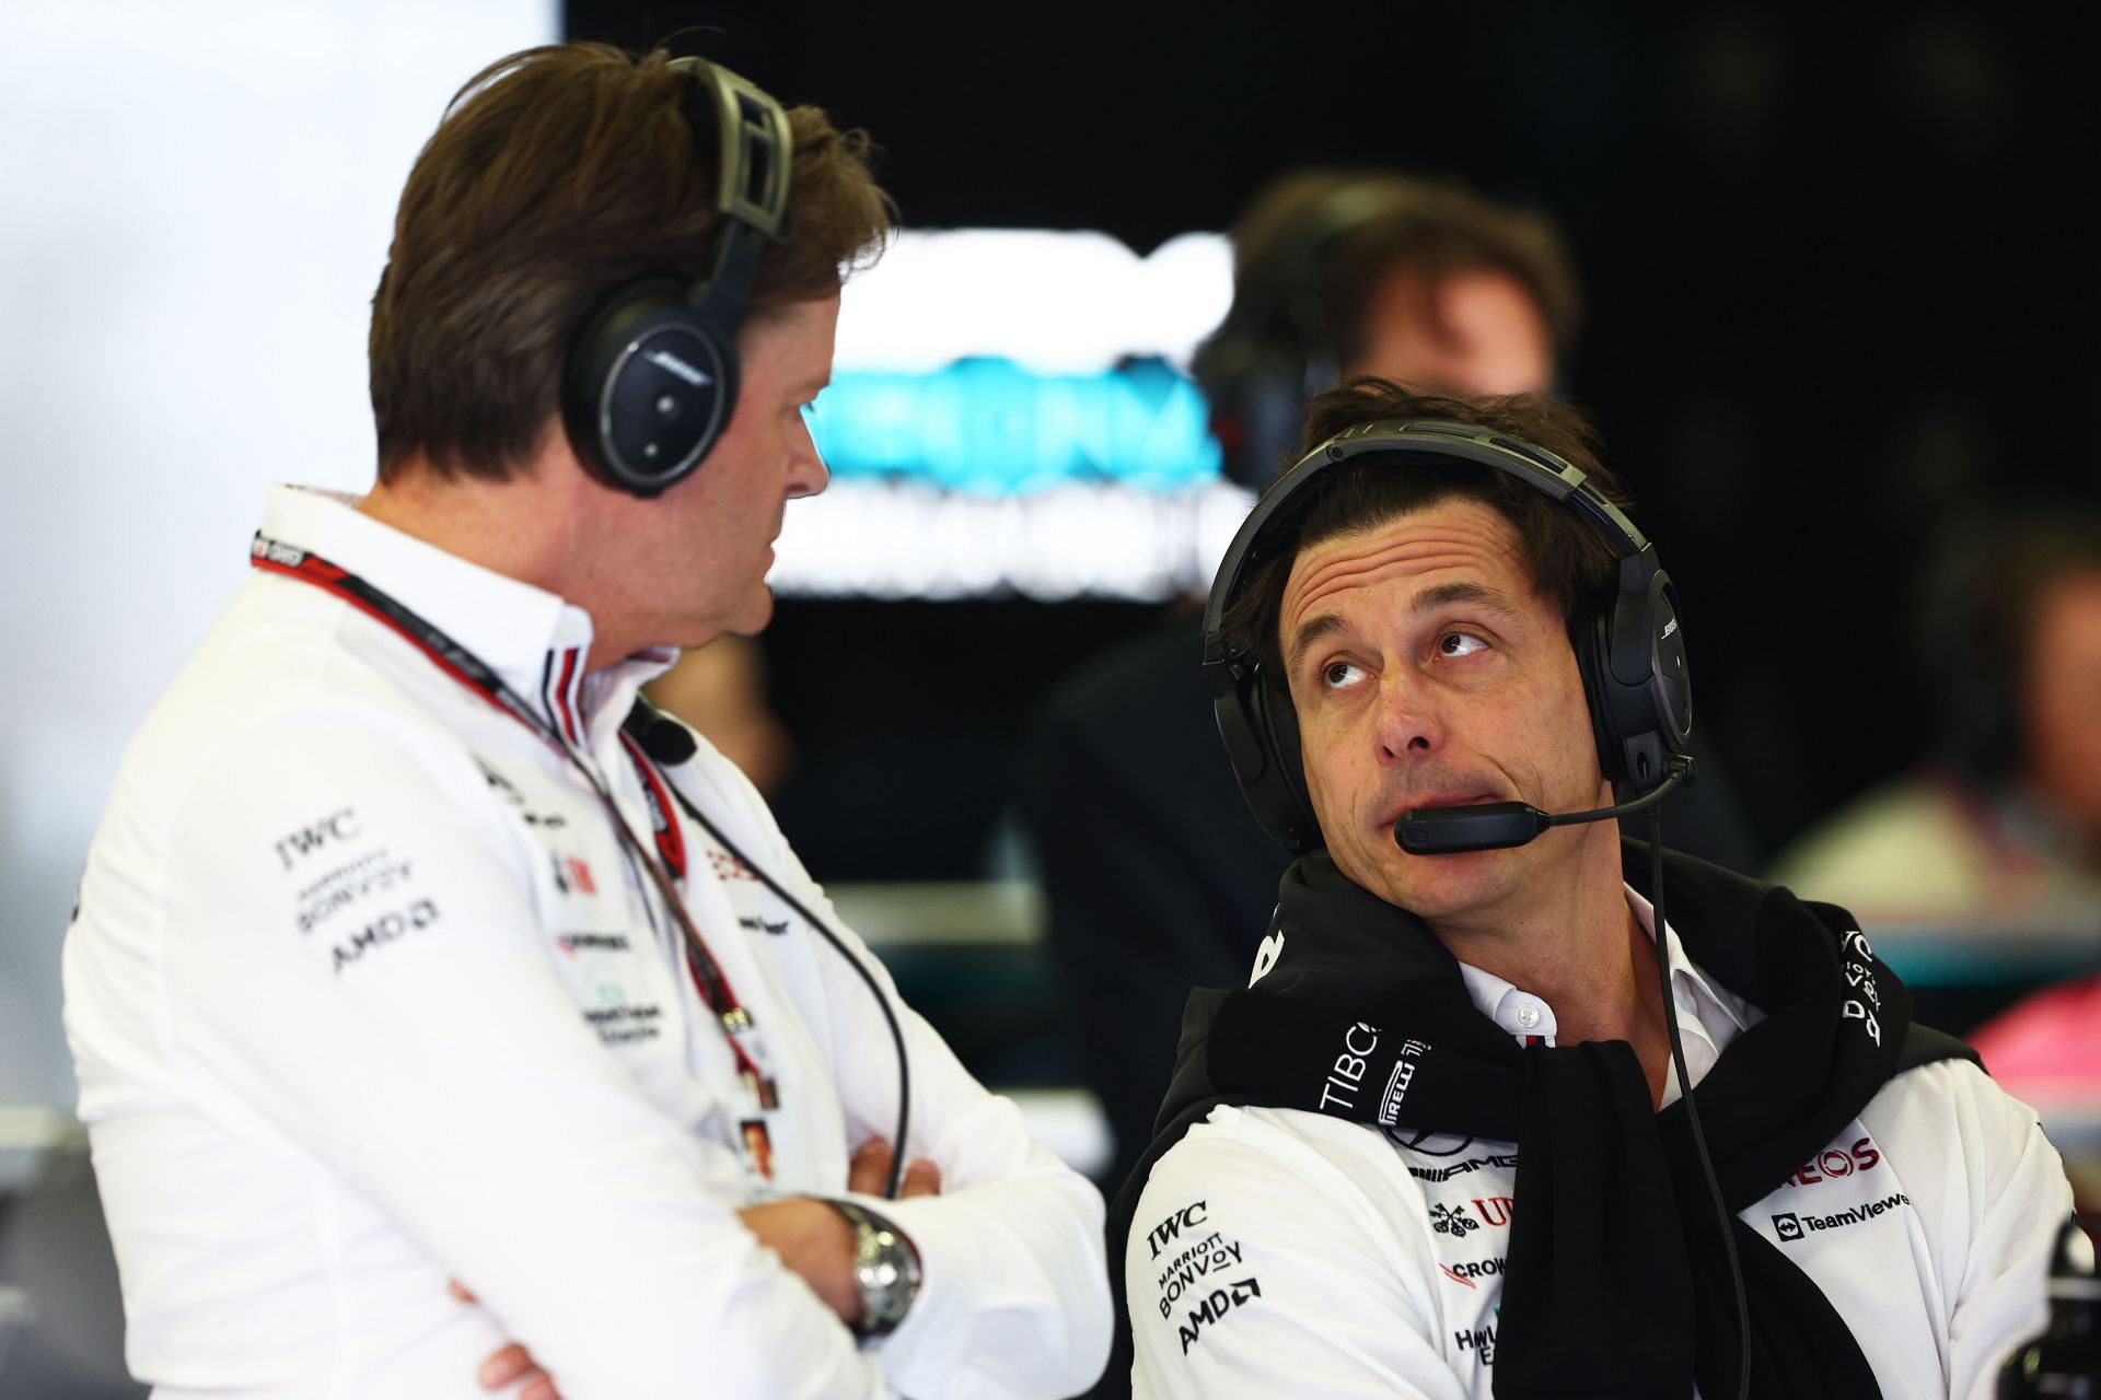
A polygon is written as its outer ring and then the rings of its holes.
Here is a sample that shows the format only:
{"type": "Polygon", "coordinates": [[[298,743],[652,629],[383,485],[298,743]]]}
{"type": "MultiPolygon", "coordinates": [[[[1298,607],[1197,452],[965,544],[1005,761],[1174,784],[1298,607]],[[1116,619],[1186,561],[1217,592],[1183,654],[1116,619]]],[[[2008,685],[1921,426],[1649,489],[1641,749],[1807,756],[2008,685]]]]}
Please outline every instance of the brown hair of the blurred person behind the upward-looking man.
{"type": "Polygon", "coordinates": [[[1504,273],[1532,296],[1557,348],[1576,340],[1576,271],[1546,216],[1458,181],[1334,166],[1277,176],[1233,220],[1227,323],[1301,357],[1349,365],[1364,353],[1372,296],[1395,269],[1431,285],[1454,273],[1504,273]],[[1315,325],[1303,325],[1307,300],[1315,325]]]}

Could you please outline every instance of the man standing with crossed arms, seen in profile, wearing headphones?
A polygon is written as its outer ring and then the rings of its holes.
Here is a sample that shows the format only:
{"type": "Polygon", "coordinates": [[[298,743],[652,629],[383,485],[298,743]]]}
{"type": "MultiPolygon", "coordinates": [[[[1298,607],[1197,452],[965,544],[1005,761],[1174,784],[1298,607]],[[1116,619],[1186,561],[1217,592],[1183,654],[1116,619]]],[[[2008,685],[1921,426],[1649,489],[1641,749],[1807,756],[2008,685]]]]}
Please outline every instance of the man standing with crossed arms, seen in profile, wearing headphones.
{"type": "Polygon", "coordinates": [[[571,1398],[1099,1371],[1099,1194],[635,707],[767,623],[885,231],[857,134],[662,52],[513,55],[424,147],[380,481],[273,491],[67,938],[155,1394],[471,1396],[506,1337],[571,1398]]]}

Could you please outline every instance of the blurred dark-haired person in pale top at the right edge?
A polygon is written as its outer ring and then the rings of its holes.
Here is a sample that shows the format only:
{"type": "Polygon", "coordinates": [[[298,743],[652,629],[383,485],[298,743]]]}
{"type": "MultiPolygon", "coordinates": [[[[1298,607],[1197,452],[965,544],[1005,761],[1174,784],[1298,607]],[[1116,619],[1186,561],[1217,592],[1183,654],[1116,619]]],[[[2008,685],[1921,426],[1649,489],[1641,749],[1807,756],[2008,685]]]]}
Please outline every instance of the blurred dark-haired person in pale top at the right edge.
{"type": "Polygon", "coordinates": [[[2101,516],[1967,529],[1920,642],[1935,751],[1794,842],[1775,879],[1868,921],[2101,930],[2101,516]]]}

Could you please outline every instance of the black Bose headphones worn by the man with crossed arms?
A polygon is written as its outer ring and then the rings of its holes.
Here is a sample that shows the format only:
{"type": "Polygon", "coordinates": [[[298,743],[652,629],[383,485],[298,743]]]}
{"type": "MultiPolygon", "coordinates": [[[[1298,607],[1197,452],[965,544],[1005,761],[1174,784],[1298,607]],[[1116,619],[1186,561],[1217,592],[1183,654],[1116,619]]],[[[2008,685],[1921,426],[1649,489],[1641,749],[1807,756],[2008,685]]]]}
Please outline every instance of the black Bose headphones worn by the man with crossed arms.
{"type": "Polygon", "coordinates": [[[693,139],[716,139],[714,269],[618,288],[569,346],[561,416],[569,443],[605,485],[658,495],[723,437],[737,407],[737,327],[758,254],[788,208],[788,113],[727,67],[674,59],[687,73],[693,139]]]}

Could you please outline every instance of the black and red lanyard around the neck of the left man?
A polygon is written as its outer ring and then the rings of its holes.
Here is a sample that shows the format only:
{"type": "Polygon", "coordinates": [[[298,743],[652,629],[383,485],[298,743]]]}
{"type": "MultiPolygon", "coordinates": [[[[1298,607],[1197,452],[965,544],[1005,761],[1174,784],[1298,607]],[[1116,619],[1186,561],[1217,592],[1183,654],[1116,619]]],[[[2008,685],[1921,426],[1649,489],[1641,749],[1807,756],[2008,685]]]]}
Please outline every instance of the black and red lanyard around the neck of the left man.
{"type": "MultiPolygon", "coordinates": [[[[529,728],[584,775],[584,781],[590,783],[590,791],[597,793],[607,816],[613,819],[613,831],[620,835],[624,850],[649,873],[649,879],[656,884],[666,909],[670,909],[672,921],[677,921],[683,930],[685,961],[687,970],[693,974],[693,987],[700,991],[700,999],[723,1026],[723,1037],[729,1041],[729,1054],[737,1062],[737,1077],[744,1081],[746,1091],[761,1106],[769,1110],[775,1108],[779,1104],[779,1085],[765,1068],[767,1056],[765,1047],[758,1043],[758,1026],[752,1022],[752,1014],[737,1001],[735,989],[729,987],[729,978],[723,976],[721,966],[708,953],[706,940],[700,936],[700,930],[693,928],[693,919],[685,913],[685,900],[679,898],[679,890],[672,886],[672,879],[685,879],[685,837],[679,833],[679,823],[672,819],[670,798],[662,789],[662,779],[635,743],[626,735],[620,737],[641,772],[643,793],[649,802],[649,819],[656,827],[656,846],[662,863],[649,858],[649,852],[628,827],[626,816],[620,814],[620,806],[605,789],[605,783],[599,781],[592,766],[569,747],[563,735],[548,724],[540,712],[527,705],[517,691],[504,684],[504,678],[498,676],[496,670],[481,657],[471,653],[466,646],[460,646],[435,623],[427,621],[393,594],[351,573],[349,569],[328,563],[311,550],[279,544],[277,539],[269,539],[256,531],[254,544],[248,552],[250,563],[256,569],[282,573],[303,584],[313,584],[321,592],[349,602],[368,617],[387,623],[422,651],[441,672],[529,728]],[[670,877],[666,877],[666,869],[670,869],[670,877]]],[[[567,697],[567,680],[569,674],[565,672],[563,697],[567,697]]]]}

